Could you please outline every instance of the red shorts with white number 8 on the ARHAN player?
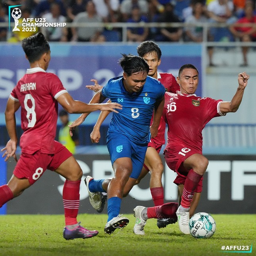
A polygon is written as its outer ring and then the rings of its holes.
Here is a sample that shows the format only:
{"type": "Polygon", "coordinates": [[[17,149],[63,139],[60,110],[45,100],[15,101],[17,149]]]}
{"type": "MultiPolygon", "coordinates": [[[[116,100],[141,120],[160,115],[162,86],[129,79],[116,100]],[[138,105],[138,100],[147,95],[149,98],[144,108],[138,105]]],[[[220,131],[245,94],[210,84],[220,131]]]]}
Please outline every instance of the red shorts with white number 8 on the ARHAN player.
{"type": "Polygon", "coordinates": [[[19,179],[28,179],[33,185],[49,169],[55,171],[72,154],[58,141],[54,141],[54,154],[44,154],[40,150],[34,154],[21,153],[13,174],[19,179]]]}

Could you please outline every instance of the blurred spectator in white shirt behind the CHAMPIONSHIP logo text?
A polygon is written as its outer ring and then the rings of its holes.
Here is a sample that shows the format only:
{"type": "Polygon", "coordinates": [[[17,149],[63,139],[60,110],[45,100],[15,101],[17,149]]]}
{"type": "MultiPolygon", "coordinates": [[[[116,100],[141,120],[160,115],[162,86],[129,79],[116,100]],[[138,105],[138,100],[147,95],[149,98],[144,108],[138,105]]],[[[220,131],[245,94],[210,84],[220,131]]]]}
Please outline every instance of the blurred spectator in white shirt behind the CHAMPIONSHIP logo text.
{"type": "MultiPolygon", "coordinates": [[[[50,7],[50,12],[42,16],[48,23],[65,23],[66,18],[60,14],[60,4],[53,2],[50,7]]],[[[41,27],[41,31],[48,41],[66,42],[67,29],[65,27],[41,27]]]]}

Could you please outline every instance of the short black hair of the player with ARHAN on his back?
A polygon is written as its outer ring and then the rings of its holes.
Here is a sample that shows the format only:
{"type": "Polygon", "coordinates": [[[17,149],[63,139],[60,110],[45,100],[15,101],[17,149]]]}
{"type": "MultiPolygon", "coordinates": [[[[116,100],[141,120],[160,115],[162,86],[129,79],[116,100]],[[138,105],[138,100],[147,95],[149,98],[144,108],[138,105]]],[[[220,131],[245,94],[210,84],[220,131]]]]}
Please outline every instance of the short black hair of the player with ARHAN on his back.
{"type": "Polygon", "coordinates": [[[40,60],[42,54],[50,51],[50,45],[41,32],[31,37],[24,38],[21,41],[21,46],[25,52],[29,63],[40,60]]]}

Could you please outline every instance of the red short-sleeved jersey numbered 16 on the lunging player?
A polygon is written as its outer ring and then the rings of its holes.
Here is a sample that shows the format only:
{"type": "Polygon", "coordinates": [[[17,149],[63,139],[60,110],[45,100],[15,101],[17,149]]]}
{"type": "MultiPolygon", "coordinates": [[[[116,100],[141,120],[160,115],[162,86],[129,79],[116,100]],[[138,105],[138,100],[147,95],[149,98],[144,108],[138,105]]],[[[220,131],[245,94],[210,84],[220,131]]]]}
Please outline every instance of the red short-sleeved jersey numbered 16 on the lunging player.
{"type": "Polygon", "coordinates": [[[212,118],[221,116],[222,100],[195,94],[165,93],[163,117],[168,125],[166,148],[180,144],[202,152],[202,130],[212,118]]]}

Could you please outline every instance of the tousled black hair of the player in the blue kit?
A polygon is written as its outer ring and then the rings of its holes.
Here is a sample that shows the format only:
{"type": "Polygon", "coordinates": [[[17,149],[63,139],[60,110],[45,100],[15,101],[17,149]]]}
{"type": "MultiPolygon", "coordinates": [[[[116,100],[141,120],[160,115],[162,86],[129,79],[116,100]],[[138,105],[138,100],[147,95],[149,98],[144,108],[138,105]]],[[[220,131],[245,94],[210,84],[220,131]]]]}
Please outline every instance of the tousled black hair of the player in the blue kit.
{"type": "Polygon", "coordinates": [[[123,57],[119,60],[119,64],[128,76],[141,72],[148,74],[149,66],[142,57],[133,54],[122,55],[123,57]]]}

